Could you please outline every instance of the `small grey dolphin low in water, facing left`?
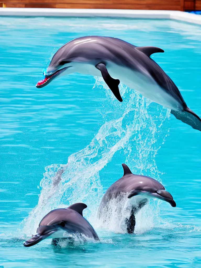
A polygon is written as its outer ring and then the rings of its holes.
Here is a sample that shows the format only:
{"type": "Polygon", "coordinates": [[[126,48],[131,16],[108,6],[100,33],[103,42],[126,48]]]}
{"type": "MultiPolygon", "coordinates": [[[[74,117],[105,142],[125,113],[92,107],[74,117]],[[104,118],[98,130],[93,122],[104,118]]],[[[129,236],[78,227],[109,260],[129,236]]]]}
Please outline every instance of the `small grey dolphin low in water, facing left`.
{"type": "Polygon", "coordinates": [[[46,238],[65,238],[64,232],[83,234],[86,237],[99,240],[94,228],[82,215],[82,211],[86,207],[87,205],[83,203],[75,203],[66,209],[50,211],[39,223],[36,234],[24,242],[24,246],[31,247],[46,238]]]}

